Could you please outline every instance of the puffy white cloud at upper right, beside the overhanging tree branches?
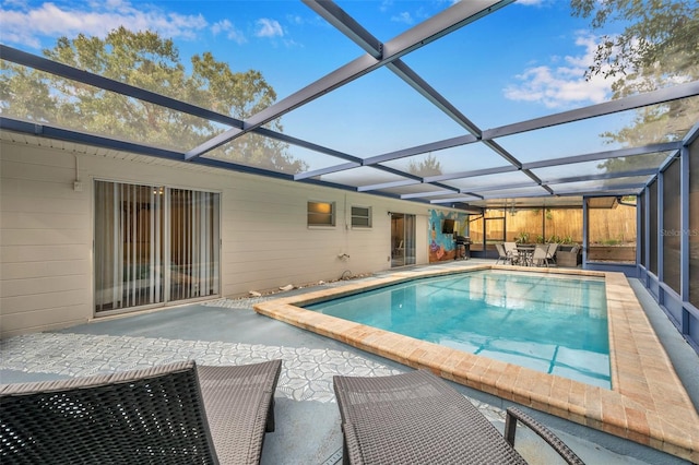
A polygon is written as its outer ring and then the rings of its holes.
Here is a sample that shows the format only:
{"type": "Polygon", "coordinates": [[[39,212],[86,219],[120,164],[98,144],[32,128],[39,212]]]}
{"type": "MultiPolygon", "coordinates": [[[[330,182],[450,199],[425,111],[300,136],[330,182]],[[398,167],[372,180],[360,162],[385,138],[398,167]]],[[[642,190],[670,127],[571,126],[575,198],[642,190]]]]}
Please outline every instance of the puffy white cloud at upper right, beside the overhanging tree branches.
{"type": "Polygon", "coordinates": [[[609,98],[611,83],[602,76],[585,81],[585,70],[593,63],[597,46],[596,37],[579,33],[576,45],[584,47],[579,56],[552,57],[549,64],[526,69],[508,85],[505,97],[519,102],[537,102],[548,108],[561,108],[580,104],[599,104],[609,98]],[[560,65],[555,65],[561,62],[560,65]]]}

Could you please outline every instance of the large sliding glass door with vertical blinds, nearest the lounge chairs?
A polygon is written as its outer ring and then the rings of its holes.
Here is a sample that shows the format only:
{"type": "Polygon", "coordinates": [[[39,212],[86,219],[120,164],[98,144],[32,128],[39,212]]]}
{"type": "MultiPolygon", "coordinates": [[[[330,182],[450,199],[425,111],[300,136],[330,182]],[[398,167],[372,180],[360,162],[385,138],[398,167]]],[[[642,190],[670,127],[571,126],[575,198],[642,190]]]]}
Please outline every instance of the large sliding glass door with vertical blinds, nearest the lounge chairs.
{"type": "Polygon", "coordinates": [[[220,194],[95,182],[95,311],[220,294],[220,194]]]}

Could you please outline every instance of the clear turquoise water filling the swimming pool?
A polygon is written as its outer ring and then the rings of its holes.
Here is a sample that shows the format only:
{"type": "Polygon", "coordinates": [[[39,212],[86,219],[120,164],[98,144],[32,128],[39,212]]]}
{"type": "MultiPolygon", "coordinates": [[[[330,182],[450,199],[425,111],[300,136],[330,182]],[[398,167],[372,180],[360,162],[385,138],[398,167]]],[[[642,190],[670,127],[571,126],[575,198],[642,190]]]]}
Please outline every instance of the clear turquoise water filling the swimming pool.
{"type": "Polygon", "coordinates": [[[487,270],[415,279],[306,308],[611,388],[603,278],[487,270]]]}

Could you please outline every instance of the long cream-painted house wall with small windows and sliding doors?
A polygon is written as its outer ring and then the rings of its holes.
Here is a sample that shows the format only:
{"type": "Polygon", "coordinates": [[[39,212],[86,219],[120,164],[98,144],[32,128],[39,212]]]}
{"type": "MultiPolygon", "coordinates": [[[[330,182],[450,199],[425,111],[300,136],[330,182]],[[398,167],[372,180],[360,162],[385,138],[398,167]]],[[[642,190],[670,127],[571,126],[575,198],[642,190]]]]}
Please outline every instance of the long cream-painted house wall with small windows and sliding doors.
{"type": "Polygon", "coordinates": [[[427,204],[135,155],[115,158],[58,141],[1,141],[0,337],[94,318],[95,179],[220,192],[223,297],[389,269],[389,212],[416,215],[416,262],[428,262],[434,207],[427,204]],[[307,226],[309,200],[334,202],[336,225],[307,226]],[[371,207],[371,228],[351,226],[352,205],[371,207]]]}

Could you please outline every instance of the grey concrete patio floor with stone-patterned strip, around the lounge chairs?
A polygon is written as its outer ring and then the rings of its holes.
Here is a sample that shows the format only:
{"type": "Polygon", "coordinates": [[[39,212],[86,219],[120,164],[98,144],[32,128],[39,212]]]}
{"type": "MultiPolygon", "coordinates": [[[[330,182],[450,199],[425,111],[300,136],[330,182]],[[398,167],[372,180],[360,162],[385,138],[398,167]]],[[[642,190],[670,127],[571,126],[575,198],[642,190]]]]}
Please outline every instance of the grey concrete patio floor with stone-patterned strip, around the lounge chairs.
{"type": "MultiPolygon", "coordinates": [[[[277,297],[279,294],[220,299],[4,339],[0,342],[0,381],[88,375],[190,358],[201,365],[242,365],[281,358],[283,368],[275,394],[277,428],[265,438],[262,463],[339,463],[342,437],[332,391],[333,374],[386,375],[410,368],[268,319],[252,310],[257,301],[277,297]]],[[[676,339],[675,343],[680,344],[676,339]]],[[[695,369],[699,366],[696,353],[691,354],[694,358],[687,353],[679,357],[684,370],[691,369],[692,360],[695,369]]],[[[502,431],[502,401],[452,385],[469,396],[502,431]]],[[[690,395],[699,398],[696,392],[690,395]]],[[[587,463],[684,463],[653,449],[530,412],[554,429],[587,463]]],[[[530,463],[555,463],[557,456],[549,455],[548,448],[542,446],[528,430],[520,428],[517,438],[518,450],[530,463]]]]}

